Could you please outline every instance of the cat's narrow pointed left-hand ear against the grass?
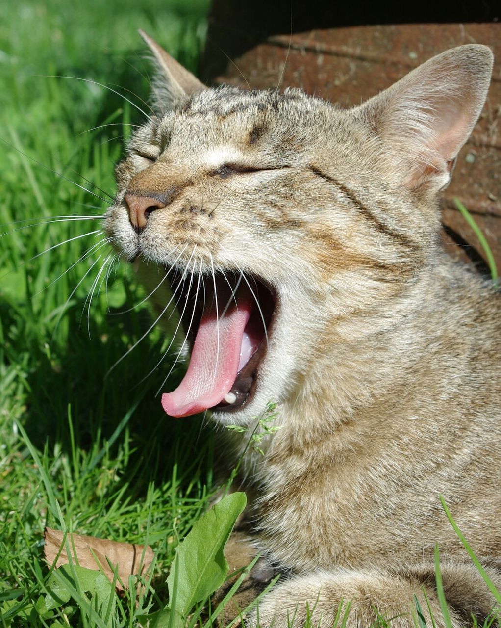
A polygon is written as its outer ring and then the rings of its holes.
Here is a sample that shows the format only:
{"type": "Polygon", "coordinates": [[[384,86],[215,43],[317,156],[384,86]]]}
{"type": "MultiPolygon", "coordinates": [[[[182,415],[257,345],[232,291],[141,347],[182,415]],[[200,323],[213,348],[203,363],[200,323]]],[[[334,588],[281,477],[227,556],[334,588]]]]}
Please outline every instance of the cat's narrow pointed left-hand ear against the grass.
{"type": "Polygon", "coordinates": [[[160,111],[169,109],[173,103],[184,99],[187,95],[207,89],[197,77],[183,68],[181,63],[171,57],[143,30],[139,30],[139,35],[153,52],[154,62],[158,68],[152,87],[155,104],[160,111]]]}

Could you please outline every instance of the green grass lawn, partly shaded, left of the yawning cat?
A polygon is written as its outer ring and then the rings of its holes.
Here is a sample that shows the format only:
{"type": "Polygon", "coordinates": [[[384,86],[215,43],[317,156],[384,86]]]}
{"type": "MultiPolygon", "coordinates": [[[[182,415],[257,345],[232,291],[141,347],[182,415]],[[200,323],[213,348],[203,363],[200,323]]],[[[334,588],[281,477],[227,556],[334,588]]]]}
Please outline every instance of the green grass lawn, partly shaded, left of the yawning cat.
{"type": "MultiPolygon", "coordinates": [[[[97,612],[81,592],[77,602],[41,612],[50,578],[43,561],[45,526],[154,548],[153,578],[144,595],[137,604],[128,594],[116,598],[110,624],[139,625],[141,616],[166,605],[175,548],[214,489],[212,432],[202,432],[200,418],[167,419],[154,396],[170,364],[140,381],[163,354],[165,338],[153,331],[105,377],[150,324],[146,305],[115,315],[143,299],[134,273],[116,266],[108,290],[95,291],[89,306],[106,249],[78,261],[102,237],[80,236],[99,230],[107,204],[82,187],[94,189],[92,181],[104,190],[95,189],[102,198],[114,194],[122,136],[142,119],[132,104],[97,83],[114,90],[120,85],[144,109],[132,95],[148,94],[150,72],[137,28],[195,70],[207,9],[208,0],[92,6],[18,0],[1,9],[3,628],[87,627],[110,620],[110,607],[97,612]],[[109,126],[95,129],[100,125],[109,126]],[[66,215],[87,218],[50,220],[66,215]]],[[[192,624],[199,621],[193,617],[192,624]]],[[[344,625],[347,614],[339,619],[344,625]]]]}

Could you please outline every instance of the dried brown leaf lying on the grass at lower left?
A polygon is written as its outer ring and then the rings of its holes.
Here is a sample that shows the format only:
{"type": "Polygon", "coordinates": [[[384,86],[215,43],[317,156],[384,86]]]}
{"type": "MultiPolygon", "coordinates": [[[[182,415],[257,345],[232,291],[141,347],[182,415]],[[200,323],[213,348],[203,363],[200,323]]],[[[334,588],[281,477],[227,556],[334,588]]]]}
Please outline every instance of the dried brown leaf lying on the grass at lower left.
{"type": "Polygon", "coordinates": [[[49,565],[55,561],[55,566],[60,567],[72,560],[73,563],[87,569],[100,569],[109,581],[113,582],[114,573],[110,563],[118,574],[115,583],[117,591],[123,591],[124,587],[128,587],[130,575],[147,575],[153,560],[153,549],[149,545],[145,547],[134,543],[119,543],[83,534],[68,533],[65,539],[65,534],[52,528],[45,528],[43,537],[45,539],[43,553],[49,565]],[[68,558],[68,546],[71,558],[68,558]]]}

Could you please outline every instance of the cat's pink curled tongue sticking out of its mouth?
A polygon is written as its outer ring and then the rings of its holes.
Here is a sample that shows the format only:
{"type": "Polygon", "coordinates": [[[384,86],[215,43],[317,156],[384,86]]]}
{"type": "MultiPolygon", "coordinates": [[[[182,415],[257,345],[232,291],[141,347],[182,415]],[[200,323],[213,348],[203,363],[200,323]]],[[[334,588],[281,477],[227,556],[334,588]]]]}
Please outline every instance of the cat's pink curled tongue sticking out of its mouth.
{"type": "Polygon", "coordinates": [[[213,299],[203,311],[183,381],[175,391],[162,395],[163,409],[170,416],[197,414],[220,403],[230,392],[241,368],[240,350],[245,325],[251,316],[251,298],[247,290],[240,288],[237,291],[238,308],[232,299],[222,315],[221,310],[224,311],[230,293],[221,296],[218,291],[219,321],[213,299]]]}

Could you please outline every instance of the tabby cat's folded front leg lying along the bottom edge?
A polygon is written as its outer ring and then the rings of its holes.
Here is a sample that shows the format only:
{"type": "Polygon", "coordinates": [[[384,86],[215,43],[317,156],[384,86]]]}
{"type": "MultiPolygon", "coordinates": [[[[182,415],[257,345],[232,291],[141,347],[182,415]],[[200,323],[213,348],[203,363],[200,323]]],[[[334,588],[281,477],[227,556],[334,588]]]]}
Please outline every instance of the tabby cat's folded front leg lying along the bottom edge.
{"type": "MultiPolygon", "coordinates": [[[[483,600],[483,603],[474,603],[473,607],[461,608],[461,602],[466,601],[461,598],[459,607],[453,605],[449,612],[455,628],[465,623],[471,625],[470,612],[477,611],[485,617],[495,601],[486,597],[485,583],[482,583],[478,572],[475,573],[475,568],[471,568],[463,569],[461,566],[459,570],[444,570],[451,575],[448,584],[444,581],[451,597],[461,597],[461,589],[468,590],[471,595],[471,587],[478,587],[481,590],[479,597],[483,600]]],[[[311,625],[331,628],[337,620],[341,624],[347,611],[347,628],[369,628],[379,617],[391,620],[389,624],[392,628],[414,628],[416,624],[412,614],[417,612],[414,596],[426,625],[442,628],[445,624],[434,588],[433,568],[420,568],[405,575],[382,570],[338,568],[294,577],[267,593],[257,610],[245,620],[245,627],[303,628],[311,625]],[[423,590],[428,597],[434,624],[423,590]],[[347,610],[348,604],[350,608],[347,610]]]]}

